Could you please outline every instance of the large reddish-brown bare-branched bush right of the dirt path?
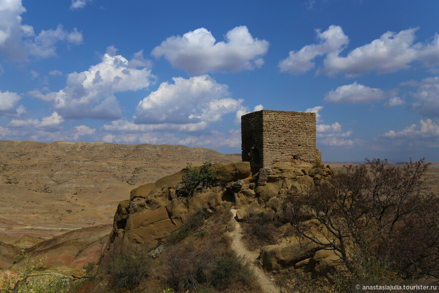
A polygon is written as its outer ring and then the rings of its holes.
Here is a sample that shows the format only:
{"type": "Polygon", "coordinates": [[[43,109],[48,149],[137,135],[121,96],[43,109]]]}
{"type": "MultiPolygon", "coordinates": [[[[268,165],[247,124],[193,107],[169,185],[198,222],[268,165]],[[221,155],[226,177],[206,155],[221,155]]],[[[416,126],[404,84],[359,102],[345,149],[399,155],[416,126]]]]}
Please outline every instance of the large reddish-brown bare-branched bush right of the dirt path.
{"type": "MultiPolygon", "coordinates": [[[[338,251],[353,279],[439,277],[438,197],[428,193],[429,164],[410,160],[390,167],[366,160],[290,197],[284,215],[296,231],[321,247],[338,251]],[[305,207],[305,208],[304,208],[305,207]],[[304,222],[319,222],[323,241],[304,222]],[[385,268],[377,275],[376,268],[385,268]]],[[[378,270],[379,272],[379,270],[378,270]]]]}

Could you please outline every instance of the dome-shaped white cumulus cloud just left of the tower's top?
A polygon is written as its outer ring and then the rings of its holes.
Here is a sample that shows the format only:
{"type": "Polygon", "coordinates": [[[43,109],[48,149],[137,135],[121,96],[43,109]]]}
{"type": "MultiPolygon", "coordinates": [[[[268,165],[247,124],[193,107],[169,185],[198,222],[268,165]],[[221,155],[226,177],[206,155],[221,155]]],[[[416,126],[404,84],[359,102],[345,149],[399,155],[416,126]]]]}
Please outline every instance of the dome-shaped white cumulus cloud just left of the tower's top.
{"type": "Polygon", "coordinates": [[[226,84],[208,75],[189,79],[174,77],[174,84],[163,82],[137,106],[137,124],[188,124],[216,122],[241,108],[243,100],[229,97],[226,84]]]}

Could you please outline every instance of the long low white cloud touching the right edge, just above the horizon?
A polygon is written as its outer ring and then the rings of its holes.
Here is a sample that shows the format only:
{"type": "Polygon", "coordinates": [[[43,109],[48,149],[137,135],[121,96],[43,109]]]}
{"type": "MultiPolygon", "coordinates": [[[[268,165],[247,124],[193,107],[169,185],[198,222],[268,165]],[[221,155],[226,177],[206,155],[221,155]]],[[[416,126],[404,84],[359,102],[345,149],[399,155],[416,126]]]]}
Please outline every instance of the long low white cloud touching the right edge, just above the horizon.
{"type": "Polygon", "coordinates": [[[390,130],[382,137],[391,139],[439,138],[439,125],[430,119],[420,120],[419,125],[412,124],[400,131],[390,130]]]}

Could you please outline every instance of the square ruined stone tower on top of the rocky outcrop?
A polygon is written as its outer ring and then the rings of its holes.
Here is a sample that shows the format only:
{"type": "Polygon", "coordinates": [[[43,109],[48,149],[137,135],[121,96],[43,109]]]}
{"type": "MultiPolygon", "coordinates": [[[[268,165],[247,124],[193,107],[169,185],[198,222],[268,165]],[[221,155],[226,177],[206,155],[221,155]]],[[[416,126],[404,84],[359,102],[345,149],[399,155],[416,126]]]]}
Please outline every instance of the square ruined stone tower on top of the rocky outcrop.
{"type": "Polygon", "coordinates": [[[275,163],[321,161],[315,113],[261,110],[241,117],[242,160],[252,172],[275,163]]]}

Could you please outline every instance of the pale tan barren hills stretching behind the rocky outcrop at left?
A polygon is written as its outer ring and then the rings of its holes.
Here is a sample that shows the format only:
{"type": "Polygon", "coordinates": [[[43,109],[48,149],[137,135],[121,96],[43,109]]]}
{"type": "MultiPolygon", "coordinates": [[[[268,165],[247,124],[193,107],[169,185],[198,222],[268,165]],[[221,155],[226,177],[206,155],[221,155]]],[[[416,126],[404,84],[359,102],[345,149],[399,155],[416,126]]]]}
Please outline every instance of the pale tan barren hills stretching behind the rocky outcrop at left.
{"type": "Polygon", "coordinates": [[[112,224],[136,185],[209,160],[241,158],[184,145],[0,141],[0,241],[112,224]]]}

